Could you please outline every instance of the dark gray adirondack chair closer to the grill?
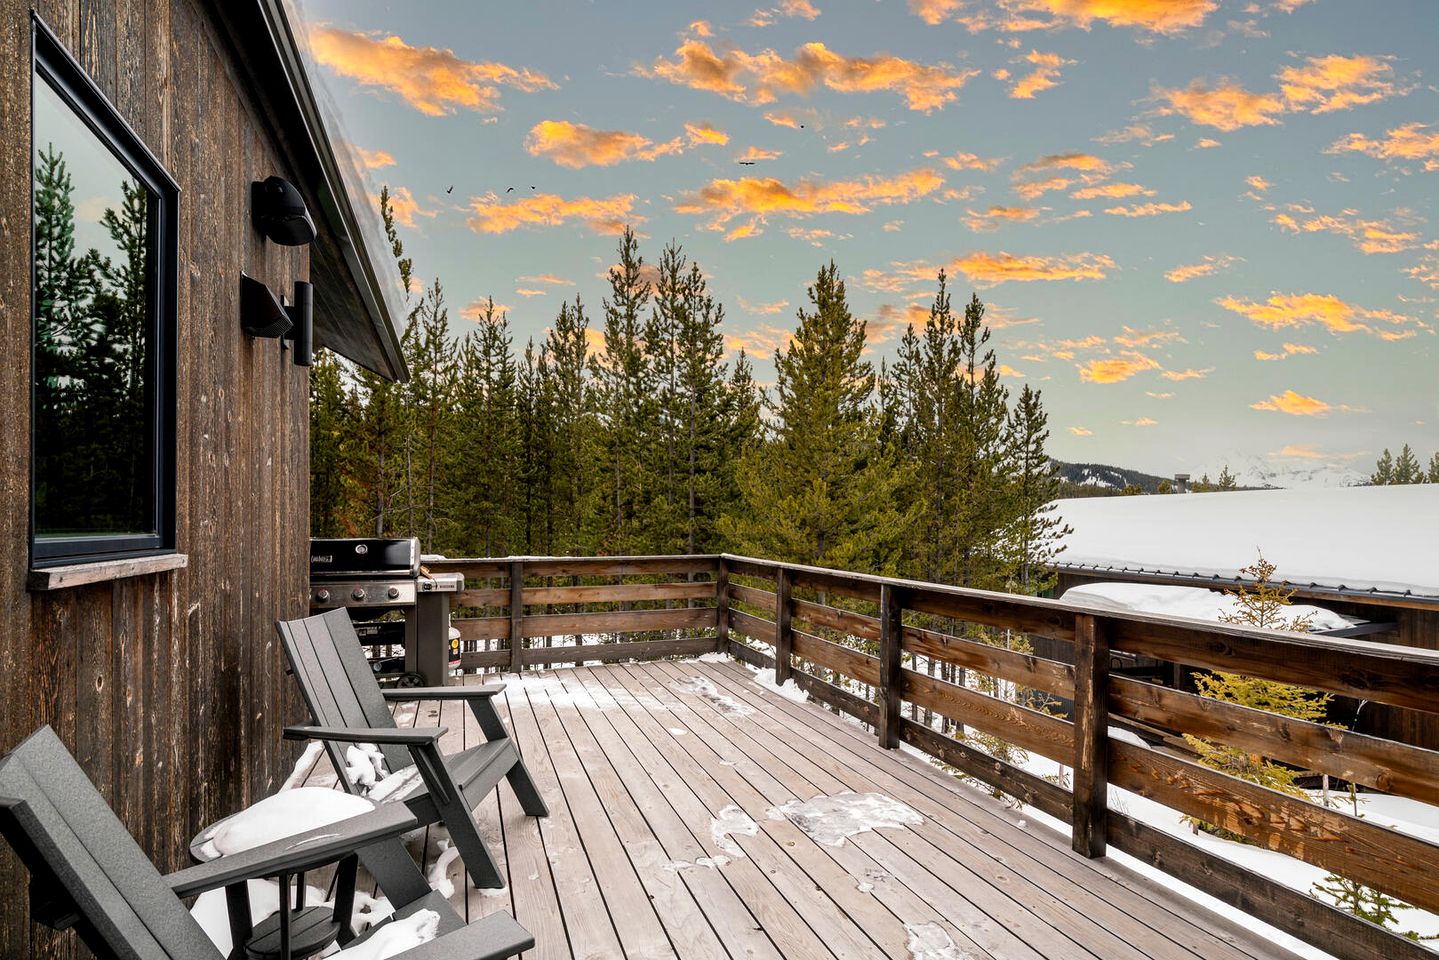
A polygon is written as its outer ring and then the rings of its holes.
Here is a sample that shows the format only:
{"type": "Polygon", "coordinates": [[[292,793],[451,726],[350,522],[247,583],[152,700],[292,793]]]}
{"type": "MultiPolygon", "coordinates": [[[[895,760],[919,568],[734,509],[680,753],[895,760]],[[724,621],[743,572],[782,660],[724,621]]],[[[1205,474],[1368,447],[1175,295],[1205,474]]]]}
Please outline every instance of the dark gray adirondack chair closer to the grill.
{"type": "Polygon", "coordinates": [[[360,648],[350,613],[342,607],[302,620],[282,620],[275,626],[314,718],[314,725],[286,727],[285,735],[291,740],[324,741],[341,783],[351,792],[355,787],[344,776],[345,744],[376,744],[384,754],[390,773],[413,763],[425,780],[425,792],[404,799],[410,812],[420,823],[445,822],[476,887],[504,887],[499,868],[475,825],[475,807],[499,784],[501,777],[508,777],[525,813],[550,815],[495,711],[492,698],[505,685],[380,689],[360,648]],[[437,738],[414,735],[422,731],[394,725],[394,717],[386,704],[407,699],[466,701],[479,721],[485,743],[460,753],[442,754],[437,738]]]}

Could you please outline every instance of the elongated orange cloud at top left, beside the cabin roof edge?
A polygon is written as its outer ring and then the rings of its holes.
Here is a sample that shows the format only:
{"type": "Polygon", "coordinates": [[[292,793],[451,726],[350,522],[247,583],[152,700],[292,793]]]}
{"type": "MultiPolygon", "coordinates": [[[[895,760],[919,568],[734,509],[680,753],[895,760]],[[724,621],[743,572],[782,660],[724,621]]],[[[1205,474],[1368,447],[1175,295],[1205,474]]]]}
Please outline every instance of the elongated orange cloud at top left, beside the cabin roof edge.
{"type": "Polygon", "coordinates": [[[544,73],[504,63],[465,60],[453,50],[410,46],[397,36],[377,37],[332,27],[308,35],[315,62],[366,86],[396,94],[429,117],[458,108],[479,112],[499,109],[499,88],[534,92],[554,89],[544,73]]]}

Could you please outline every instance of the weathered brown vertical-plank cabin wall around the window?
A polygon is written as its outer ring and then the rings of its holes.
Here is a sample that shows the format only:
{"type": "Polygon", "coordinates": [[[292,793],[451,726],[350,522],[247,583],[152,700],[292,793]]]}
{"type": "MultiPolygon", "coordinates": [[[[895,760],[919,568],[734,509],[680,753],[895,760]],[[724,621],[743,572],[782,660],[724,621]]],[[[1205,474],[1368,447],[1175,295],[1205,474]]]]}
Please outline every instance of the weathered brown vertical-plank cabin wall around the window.
{"type": "MultiPolygon", "coordinates": [[[[240,332],[239,291],[245,271],[288,292],[308,261],[250,227],[250,181],[286,171],[197,3],[36,9],[180,183],[177,545],[189,567],[26,589],[32,4],[0,0],[0,751],[53,725],[170,871],[187,865],[200,826],[272,793],[298,753],[279,737],[302,708],[273,622],[307,612],[307,373],[275,340],[240,332]]],[[[23,889],[0,845],[0,956],[86,954],[27,920],[23,889]]]]}

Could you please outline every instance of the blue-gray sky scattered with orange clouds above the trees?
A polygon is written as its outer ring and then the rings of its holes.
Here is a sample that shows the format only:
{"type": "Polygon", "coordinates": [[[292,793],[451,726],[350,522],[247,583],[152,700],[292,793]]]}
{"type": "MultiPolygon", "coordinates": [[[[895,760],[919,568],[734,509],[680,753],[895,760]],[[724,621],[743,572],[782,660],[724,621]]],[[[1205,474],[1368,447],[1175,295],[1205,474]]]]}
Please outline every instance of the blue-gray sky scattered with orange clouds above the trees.
{"type": "Polygon", "coordinates": [[[629,223],[761,383],[829,259],[876,363],[943,268],[1061,459],[1439,449],[1433,0],[294,3],[456,334],[597,320],[629,223]]]}

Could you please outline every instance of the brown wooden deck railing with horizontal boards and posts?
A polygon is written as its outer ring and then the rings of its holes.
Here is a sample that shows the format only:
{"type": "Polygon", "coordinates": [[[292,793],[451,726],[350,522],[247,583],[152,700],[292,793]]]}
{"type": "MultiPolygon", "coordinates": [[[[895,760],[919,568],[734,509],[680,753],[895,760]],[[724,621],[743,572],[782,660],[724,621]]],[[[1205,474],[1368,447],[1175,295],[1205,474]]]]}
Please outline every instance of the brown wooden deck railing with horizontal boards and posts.
{"type": "Polygon", "coordinates": [[[1111,655],[1128,653],[1439,712],[1439,652],[1101,612],[728,554],[430,567],[484,584],[459,600],[482,613],[456,620],[460,636],[486,646],[462,655],[466,668],[727,651],[773,666],[778,682],[793,679],[814,699],[871,724],[881,744],[909,744],[1069,822],[1073,849],[1085,856],[1112,846],[1345,960],[1435,959],[1420,944],[1111,809],[1108,789],[1130,790],[1439,911],[1439,845],[1219,773],[1180,750],[1109,735],[1112,721],[1137,721],[1439,805],[1436,751],[1111,674],[1111,655]],[[505,586],[491,586],[499,581],[505,586]],[[966,638],[966,625],[1066,642],[1073,664],[966,638]],[[642,639],[553,645],[553,638],[593,635],[642,639]],[[535,645],[538,638],[551,645],[535,645]],[[920,665],[927,669],[915,669],[920,665]],[[1069,718],[980,692],[964,682],[966,672],[1068,701],[1069,718]],[[924,723],[932,717],[1062,763],[1073,770],[1071,786],[924,723]]]}

